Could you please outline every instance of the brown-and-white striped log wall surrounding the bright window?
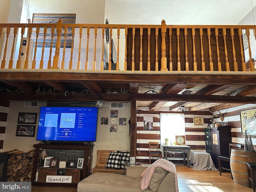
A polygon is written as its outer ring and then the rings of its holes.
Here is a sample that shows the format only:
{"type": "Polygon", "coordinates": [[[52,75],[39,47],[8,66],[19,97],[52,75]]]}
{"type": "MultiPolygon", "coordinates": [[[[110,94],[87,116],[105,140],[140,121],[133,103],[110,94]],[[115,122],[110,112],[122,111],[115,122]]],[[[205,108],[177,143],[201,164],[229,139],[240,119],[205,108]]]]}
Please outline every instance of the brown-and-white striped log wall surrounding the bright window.
{"type": "MultiPolygon", "coordinates": [[[[160,143],[160,113],[168,112],[138,111],[137,113],[137,162],[149,163],[148,142],[153,141],[160,143]],[[144,116],[153,117],[153,130],[144,130],[144,116]]],[[[188,111],[184,113],[184,118],[186,145],[190,146],[191,150],[205,150],[204,128],[211,123],[212,113],[209,111],[188,111]],[[199,115],[204,117],[204,126],[194,125],[193,116],[199,115]]],[[[182,155],[183,154],[175,154],[176,157],[182,155]]],[[[154,160],[152,162],[154,162],[154,160]]]]}

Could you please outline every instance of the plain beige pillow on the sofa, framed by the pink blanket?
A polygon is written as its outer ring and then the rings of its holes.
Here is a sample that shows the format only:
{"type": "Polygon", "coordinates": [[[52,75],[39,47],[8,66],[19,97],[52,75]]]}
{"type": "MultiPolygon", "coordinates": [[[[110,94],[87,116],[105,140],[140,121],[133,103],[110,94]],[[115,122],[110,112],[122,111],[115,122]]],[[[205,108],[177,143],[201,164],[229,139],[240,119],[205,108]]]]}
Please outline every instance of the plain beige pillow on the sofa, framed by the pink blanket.
{"type": "Polygon", "coordinates": [[[149,188],[152,190],[152,192],[156,192],[159,185],[161,184],[162,180],[165,178],[168,171],[166,171],[162,167],[156,167],[155,171],[152,175],[152,178],[150,179],[149,188]]]}

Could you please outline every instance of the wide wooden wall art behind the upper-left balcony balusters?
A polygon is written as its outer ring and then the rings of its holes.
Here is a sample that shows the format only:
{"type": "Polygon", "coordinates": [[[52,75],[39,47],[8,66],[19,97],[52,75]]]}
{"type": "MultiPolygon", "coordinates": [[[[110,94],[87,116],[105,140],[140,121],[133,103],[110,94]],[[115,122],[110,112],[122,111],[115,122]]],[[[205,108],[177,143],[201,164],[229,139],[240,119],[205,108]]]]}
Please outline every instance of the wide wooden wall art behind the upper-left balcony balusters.
{"type": "MultiPolygon", "coordinates": [[[[48,13],[34,13],[32,18],[32,23],[57,23],[59,19],[62,19],[63,23],[71,24],[76,23],[76,14],[48,14],[48,13]]],[[[47,28],[46,40],[45,40],[45,47],[50,48],[51,46],[51,34],[52,28],[47,28]]],[[[40,28],[40,34],[44,34],[44,28],[40,28]]],[[[57,35],[56,35],[56,28],[54,29],[54,37],[52,47],[54,48],[56,45],[57,35]]],[[[36,28],[32,29],[31,39],[36,42],[36,28]]],[[[62,30],[61,40],[60,40],[60,47],[63,48],[64,46],[64,29],[62,30]]],[[[37,47],[42,47],[44,42],[44,36],[38,36],[37,47]]],[[[66,48],[71,48],[72,45],[72,28],[68,28],[67,37],[66,37],[66,48]]]]}

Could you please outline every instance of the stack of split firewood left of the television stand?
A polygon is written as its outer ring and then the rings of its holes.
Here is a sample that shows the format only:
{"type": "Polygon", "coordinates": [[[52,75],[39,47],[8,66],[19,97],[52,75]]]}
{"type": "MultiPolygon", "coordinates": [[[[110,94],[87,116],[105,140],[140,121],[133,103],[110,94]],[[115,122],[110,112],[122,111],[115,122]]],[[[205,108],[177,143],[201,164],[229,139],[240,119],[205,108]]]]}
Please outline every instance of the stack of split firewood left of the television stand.
{"type": "Polygon", "coordinates": [[[8,152],[10,158],[7,166],[7,181],[9,182],[31,182],[35,150],[24,152],[12,150],[8,152]]]}

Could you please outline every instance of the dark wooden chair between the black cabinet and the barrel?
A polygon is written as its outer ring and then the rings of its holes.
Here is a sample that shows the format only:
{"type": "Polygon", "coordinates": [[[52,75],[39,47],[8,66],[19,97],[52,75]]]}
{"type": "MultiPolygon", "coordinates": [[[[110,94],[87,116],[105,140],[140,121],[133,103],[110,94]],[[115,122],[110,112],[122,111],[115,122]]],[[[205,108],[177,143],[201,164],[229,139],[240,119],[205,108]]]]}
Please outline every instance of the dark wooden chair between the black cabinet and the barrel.
{"type": "MultiPolygon", "coordinates": [[[[231,149],[241,149],[241,146],[242,146],[242,144],[230,143],[230,144],[228,144],[229,156],[218,156],[220,176],[221,176],[222,170],[226,170],[226,171],[230,171],[231,172],[231,170],[230,170],[230,153],[231,153],[231,149]],[[226,166],[223,166],[224,162],[226,162],[226,166]]],[[[231,178],[233,179],[232,173],[231,173],[231,178]]]]}

